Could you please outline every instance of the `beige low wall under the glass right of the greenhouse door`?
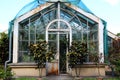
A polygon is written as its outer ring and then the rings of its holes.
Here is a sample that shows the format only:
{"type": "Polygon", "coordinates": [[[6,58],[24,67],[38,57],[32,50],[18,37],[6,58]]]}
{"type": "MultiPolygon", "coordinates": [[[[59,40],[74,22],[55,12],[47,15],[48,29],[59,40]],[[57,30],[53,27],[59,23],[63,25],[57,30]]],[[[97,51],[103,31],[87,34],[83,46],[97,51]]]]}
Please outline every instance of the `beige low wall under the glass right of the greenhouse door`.
{"type": "Polygon", "coordinates": [[[105,64],[82,64],[70,68],[68,73],[72,76],[105,76],[105,64]],[[77,75],[76,75],[77,73],[77,75]]]}

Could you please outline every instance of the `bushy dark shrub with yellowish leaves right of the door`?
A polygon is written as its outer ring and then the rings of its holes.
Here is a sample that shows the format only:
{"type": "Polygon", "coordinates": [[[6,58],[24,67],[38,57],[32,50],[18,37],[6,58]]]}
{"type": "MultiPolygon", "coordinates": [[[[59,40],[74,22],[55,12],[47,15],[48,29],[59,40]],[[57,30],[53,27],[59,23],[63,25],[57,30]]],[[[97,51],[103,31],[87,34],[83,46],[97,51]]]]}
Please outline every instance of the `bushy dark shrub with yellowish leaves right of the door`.
{"type": "Polygon", "coordinates": [[[87,56],[87,44],[81,41],[73,41],[67,56],[70,67],[83,64],[87,56]]]}

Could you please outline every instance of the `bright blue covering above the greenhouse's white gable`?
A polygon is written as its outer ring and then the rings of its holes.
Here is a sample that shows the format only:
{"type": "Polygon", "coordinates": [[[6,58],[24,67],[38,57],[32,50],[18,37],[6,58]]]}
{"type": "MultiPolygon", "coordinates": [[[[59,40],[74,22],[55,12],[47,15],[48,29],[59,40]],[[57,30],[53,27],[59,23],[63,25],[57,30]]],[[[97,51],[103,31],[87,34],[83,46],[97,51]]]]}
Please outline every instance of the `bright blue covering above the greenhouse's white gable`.
{"type": "Polygon", "coordinates": [[[82,10],[93,14],[88,8],[87,6],[82,2],[82,0],[34,0],[30,3],[28,3],[27,5],[25,5],[19,12],[18,14],[15,16],[15,18],[18,18],[19,16],[37,8],[38,6],[40,6],[41,4],[45,4],[47,2],[57,2],[57,1],[61,1],[61,2],[68,2],[71,3],[73,5],[76,5],[77,7],[81,8],[82,10]]]}

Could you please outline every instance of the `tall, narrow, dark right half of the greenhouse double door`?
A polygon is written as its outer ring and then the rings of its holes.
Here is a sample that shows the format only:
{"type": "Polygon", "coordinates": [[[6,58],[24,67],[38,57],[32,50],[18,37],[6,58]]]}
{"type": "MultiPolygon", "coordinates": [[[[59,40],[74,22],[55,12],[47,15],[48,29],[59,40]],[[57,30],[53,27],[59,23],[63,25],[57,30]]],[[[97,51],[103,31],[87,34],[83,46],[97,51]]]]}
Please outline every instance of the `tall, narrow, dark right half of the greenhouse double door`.
{"type": "Polygon", "coordinates": [[[69,36],[68,34],[60,34],[59,36],[59,72],[60,74],[66,73],[67,72],[67,52],[68,52],[68,47],[69,47],[69,36]]]}

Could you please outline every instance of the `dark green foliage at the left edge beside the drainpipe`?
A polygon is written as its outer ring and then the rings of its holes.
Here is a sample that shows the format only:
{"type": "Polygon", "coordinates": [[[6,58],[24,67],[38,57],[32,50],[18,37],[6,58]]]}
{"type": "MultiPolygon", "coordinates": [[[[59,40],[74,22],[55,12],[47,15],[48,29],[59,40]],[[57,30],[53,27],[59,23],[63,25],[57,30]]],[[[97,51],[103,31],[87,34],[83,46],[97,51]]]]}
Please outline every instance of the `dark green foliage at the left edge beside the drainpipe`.
{"type": "Polygon", "coordinates": [[[9,39],[5,33],[0,33],[0,64],[4,64],[8,59],[9,39]]]}

